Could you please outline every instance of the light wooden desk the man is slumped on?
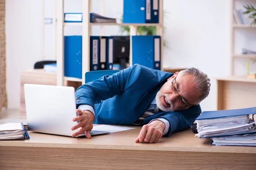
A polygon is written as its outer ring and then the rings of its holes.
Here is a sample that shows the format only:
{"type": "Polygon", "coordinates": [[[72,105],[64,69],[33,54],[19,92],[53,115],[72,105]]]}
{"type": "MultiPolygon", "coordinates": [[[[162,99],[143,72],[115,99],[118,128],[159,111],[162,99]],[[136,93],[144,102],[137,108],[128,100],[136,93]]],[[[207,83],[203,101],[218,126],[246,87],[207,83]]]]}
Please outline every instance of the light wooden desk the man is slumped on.
{"type": "Polygon", "coordinates": [[[29,140],[0,141],[0,169],[255,170],[256,147],[212,146],[192,129],[134,143],[140,129],[92,139],[30,132],[29,140]]]}

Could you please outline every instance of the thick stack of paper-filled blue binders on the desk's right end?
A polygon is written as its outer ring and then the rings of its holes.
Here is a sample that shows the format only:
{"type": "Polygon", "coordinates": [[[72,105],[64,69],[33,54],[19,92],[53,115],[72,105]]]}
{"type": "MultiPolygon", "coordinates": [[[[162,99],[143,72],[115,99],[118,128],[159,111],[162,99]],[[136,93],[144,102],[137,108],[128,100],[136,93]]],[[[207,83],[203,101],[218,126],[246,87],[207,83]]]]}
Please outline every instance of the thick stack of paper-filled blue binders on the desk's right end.
{"type": "Polygon", "coordinates": [[[256,146],[255,108],[206,111],[197,118],[200,138],[210,137],[212,145],[256,146]]]}

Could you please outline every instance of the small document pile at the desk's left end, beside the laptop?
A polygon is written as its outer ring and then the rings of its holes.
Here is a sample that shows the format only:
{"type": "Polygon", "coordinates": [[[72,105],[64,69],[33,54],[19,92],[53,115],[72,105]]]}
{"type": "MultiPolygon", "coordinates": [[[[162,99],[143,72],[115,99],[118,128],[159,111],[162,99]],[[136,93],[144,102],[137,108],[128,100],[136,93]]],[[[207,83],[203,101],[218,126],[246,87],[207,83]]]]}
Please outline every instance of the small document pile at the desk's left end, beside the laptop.
{"type": "Polygon", "coordinates": [[[6,123],[0,125],[0,140],[29,139],[23,123],[6,123]]]}

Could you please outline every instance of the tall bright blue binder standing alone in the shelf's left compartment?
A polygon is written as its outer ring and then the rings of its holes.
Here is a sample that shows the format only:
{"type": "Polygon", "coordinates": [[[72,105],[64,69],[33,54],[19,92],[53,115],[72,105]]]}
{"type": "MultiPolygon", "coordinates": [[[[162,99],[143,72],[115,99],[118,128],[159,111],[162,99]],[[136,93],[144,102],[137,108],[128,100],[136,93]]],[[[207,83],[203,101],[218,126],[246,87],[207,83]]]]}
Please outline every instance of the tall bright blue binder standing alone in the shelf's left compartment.
{"type": "Polygon", "coordinates": [[[82,78],[82,36],[64,36],[64,76],[82,78]]]}

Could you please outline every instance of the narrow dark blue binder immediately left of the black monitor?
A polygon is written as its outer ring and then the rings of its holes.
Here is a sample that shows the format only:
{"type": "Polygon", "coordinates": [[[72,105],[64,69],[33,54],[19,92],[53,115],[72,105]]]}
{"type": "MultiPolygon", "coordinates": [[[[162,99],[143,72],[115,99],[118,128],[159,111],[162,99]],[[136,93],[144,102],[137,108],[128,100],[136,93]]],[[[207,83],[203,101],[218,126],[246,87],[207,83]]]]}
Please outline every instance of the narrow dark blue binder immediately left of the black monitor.
{"type": "Polygon", "coordinates": [[[113,70],[113,37],[107,37],[106,65],[107,70],[113,70]]]}

